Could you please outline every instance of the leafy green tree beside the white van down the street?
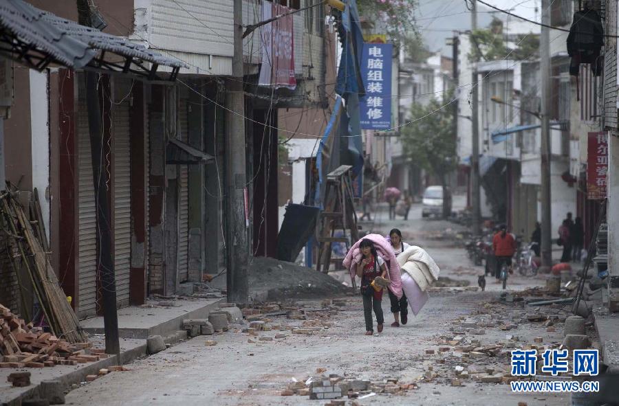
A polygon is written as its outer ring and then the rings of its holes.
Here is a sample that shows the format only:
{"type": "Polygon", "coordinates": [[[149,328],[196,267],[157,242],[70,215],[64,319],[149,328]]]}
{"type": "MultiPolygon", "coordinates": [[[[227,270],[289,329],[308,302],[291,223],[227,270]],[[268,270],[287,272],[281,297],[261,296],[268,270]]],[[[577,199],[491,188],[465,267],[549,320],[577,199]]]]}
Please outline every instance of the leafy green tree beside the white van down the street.
{"type": "MultiPolygon", "coordinates": [[[[447,176],[456,166],[456,135],[453,131],[453,109],[445,106],[451,100],[432,100],[427,106],[411,106],[411,122],[401,131],[404,155],[408,161],[433,174],[447,194],[447,176]],[[421,118],[423,117],[423,118],[421,118]]],[[[443,199],[443,216],[449,216],[448,199],[443,199]]]]}

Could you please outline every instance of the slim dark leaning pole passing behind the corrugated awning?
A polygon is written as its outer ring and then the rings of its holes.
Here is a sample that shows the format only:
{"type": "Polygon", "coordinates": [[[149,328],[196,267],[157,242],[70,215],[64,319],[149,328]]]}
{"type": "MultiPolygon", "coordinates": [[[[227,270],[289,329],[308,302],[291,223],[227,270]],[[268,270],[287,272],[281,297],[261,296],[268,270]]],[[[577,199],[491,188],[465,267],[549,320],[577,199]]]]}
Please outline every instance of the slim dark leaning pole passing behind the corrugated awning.
{"type": "MultiPolygon", "coordinates": [[[[77,0],[78,19],[82,25],[92,27],[88,0],[77,0]]],[[[111,256],[111,216],[107,170],[103,170],[101,158],[103,131],[101,106],[99,105],[98,76],[94,71],[86,71],[86,105],[88,108],[88,130],[90,133],[90,155],[92,159],[92,176],[94,179],[94,193],[97,205],[97,241],[98,241],[98,270],[101,275],[101,294],[103,307],[103,326],[105,330],[105,352],[120,356],[120,342],[118,341],[118,313],[116,311],[116,279],[114,276],[114,262],[111,256]]]]}

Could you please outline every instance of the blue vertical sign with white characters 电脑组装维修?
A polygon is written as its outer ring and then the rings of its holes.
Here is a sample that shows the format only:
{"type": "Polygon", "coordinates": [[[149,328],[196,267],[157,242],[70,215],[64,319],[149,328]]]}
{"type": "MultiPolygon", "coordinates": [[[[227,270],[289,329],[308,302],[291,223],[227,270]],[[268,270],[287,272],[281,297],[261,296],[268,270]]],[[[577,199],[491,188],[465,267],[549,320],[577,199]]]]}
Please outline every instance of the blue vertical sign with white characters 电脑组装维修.
{"type": "Polygon", "coordinates": [[[360,99],[361,128],[391,128],[391,54],[393,45],[364,43],[361,76],[365,97],[360,99]]]}

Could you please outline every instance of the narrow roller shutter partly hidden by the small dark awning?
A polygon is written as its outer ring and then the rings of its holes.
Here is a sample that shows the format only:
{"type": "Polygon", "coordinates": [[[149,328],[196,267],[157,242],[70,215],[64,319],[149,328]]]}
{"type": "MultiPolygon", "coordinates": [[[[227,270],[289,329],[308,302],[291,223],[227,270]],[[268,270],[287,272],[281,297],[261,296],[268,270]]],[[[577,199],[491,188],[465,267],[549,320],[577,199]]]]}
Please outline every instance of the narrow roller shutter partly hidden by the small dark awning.
{"type": "MultiPolygon", "coordinates": [[[[178,109],[179,131],[182,142],[188,141],[188,100],[181,99],[178,109]]],[[[189,278],[189,170],[186,165],[178,166],[179,177],[179,204],[178,204],[178,276],[179,282],[186,282],[189,278]]]]}

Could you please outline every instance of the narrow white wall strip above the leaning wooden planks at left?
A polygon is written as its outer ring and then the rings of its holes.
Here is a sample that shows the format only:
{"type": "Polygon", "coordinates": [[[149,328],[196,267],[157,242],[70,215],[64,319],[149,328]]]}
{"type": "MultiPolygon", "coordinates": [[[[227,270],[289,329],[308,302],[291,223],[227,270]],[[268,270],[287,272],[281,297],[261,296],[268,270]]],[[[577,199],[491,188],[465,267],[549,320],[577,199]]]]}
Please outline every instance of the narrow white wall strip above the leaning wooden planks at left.
{"type": "Polygon", "coordinates": [[[47,240],[50,238],[50,202],[45,191],[50,185],[50,121],[47,73],[30,69],[30,131],[32,134],[32,188],[39,192],[47,240]]]}

